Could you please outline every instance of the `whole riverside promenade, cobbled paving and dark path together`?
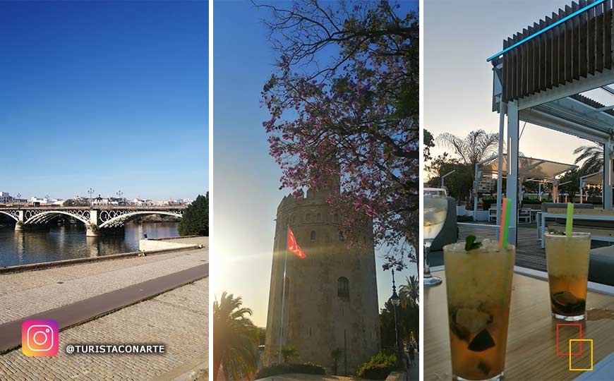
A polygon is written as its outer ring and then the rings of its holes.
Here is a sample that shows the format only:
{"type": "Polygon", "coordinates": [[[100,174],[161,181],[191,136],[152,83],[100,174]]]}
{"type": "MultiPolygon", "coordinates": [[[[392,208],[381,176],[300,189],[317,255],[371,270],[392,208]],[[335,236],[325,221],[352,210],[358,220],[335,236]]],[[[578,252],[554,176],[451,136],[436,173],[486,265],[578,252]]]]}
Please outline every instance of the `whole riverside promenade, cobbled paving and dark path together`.
{"type": "Polygon", "coordinates": [[[0,351],[13,350],[0,356],[0,380],[174,380],[206,364],[208,238],[174,242],[203,248],[1,274],[0,351]],[[56,356],[16,349],[25,318],[58,321],[56,356]],[[64,352],[66,344],[133,343],[165,344],[167,353],[64,352]]]}

